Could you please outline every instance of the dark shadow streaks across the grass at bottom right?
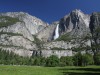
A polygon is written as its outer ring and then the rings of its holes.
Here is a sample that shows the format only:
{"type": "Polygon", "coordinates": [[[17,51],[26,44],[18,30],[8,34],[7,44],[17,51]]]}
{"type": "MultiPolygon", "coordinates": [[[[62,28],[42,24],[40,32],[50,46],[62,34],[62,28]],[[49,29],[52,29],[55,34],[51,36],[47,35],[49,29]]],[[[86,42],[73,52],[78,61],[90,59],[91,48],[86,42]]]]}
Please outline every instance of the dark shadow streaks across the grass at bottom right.
{"type": "Polygon", "coordinates": [[[59,70],[63,71],[63,75],[100,75],[100,68],[62,68],[59,70]]]}

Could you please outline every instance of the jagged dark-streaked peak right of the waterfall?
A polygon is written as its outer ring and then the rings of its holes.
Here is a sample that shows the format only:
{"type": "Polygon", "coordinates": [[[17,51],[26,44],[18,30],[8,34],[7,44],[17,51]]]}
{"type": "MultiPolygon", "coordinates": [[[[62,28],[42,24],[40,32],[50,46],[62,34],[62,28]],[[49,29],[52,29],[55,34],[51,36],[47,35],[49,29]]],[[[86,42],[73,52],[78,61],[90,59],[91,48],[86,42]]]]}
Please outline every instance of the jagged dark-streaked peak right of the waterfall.
{"type": "Polygon", "coordinates": [[[60,34],[69,33],[73,37],[83,37],[89,33],[90,16],[81,10],[74,10],[60,20],[60,34]]]}

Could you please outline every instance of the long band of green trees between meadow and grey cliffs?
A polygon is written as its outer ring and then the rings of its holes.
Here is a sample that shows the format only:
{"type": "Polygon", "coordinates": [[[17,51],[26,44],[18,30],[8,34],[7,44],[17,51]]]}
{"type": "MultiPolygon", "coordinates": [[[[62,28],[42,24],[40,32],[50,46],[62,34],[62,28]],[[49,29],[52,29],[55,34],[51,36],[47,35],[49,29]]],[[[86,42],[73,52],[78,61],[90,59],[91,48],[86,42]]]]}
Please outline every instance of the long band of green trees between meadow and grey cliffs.
{"type": "Polygon", "coordinates": [[[62,56],[58,58],[55,55],[50,57],[22,57],[0,49],[0,64],[4,65],[35,65],[35,66],[87,66],[87,65],[100,65],[100,53],[95,57],[89,53],[81,54],[76,53],[74,56],[62,56]],[[95,58],[95,60],[94,60],[95,58]]]}

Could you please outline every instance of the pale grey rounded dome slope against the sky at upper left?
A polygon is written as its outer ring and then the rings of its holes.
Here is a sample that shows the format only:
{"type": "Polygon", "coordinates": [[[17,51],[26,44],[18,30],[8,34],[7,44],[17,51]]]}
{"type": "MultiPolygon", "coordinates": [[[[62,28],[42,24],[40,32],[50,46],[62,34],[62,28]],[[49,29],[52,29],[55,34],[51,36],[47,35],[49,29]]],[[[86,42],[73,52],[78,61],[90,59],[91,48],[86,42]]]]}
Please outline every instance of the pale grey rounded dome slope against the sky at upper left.
{"type": "Polygon", "coordinates": [[[39,18],[36,18],[35,16],[31,16],[28,13],[24,12],[8,12],[2,13],[0,15],[19,18],[20,21],[23,21],[27,30],[33,35],[44,29],[46,26],[48,26],[48,23],[45,23],[39,18]]]}

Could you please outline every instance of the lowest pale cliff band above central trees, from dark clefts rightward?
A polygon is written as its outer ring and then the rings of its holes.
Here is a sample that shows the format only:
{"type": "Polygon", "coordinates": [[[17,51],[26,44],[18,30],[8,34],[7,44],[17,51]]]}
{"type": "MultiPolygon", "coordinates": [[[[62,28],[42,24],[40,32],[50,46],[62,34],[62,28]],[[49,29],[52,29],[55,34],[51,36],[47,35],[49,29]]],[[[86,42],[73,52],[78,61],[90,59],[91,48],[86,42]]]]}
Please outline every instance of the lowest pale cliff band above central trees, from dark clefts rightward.
{"type": "Polygon", "coordinates": [[[61,56],[72,56],[72,50],[34,50],[33,56],[50,57],[56,55],[59,58],[61,56]]]}

